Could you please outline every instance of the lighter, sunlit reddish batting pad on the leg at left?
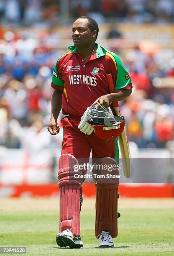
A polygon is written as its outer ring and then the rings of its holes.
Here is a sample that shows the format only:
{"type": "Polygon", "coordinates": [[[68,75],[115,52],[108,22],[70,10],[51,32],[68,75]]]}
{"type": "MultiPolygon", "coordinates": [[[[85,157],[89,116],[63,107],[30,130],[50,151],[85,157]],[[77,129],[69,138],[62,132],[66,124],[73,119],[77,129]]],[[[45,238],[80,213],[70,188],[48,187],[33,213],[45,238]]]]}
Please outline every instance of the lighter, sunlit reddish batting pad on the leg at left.
{"type": "Polygon", "coordinates": [[[69,229],[74,236],[80,235],[81,181],[74,177],[77,159],[64,154],[59,158],[60,224],[59,232],[69,229]]]}

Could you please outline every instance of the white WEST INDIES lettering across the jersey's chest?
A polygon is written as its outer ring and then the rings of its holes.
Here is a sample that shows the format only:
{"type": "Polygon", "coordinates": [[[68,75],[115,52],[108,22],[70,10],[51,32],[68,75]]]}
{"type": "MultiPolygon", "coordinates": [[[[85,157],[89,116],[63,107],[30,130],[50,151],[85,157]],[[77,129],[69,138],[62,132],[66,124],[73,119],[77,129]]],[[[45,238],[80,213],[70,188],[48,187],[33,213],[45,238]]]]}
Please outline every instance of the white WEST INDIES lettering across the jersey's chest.
{"type": "Polygon", "coordinates": [[[97,78],[87,75],[70,75],[69,76],[69,83],[74,84],[87,84],[96,86],[97,85],[97,78]]]}

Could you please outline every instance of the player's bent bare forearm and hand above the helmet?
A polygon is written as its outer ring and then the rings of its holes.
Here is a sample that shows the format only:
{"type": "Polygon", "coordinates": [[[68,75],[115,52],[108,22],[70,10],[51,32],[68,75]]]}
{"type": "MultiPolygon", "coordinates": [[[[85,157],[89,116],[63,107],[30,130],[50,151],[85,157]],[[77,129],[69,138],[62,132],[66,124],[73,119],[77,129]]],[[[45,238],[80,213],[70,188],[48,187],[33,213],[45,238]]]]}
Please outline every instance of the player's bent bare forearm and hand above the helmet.
{"type": "Polygon", "coordinates": [[[132,93],[132,89],[130,89],[130,90],[124,90],[124,89],[115,90],[115,92],[113,92],[113,93],[102,95],[97,100],[95,100],[95,102],[93,104],[95,104],[96,102],[99,102],[101,105],[103,105],[105,108],[107,108],[110,105],[110,102],[124,100],[125,98],[130,96],[131,93],[132,93]]]}

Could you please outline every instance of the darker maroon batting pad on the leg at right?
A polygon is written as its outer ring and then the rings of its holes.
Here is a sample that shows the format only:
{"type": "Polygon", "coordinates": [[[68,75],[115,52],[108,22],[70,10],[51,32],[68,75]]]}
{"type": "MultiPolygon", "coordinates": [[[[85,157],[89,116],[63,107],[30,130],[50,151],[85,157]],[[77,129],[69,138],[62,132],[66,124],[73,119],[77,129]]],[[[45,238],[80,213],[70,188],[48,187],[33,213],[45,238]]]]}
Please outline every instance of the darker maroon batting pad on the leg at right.
{"type": "MultiPolygon", "coordinates": [[[[104,164],[116,164],[115,160],[107,157],[101,158],[102,165],[104,164]]],[[[106,170],[100,172],[100,174],[104,173],[108,174],[106,170]]],[[[114,171],[114,174],[119,174],[118,170],[114,171]]],[[[113,174],[111,172],[111,174],[113,174]]],[[[113,178],[107,179],[107,182],[101,183],[101,179],[97,181],[95,179],[95,187],[96,187],[96,202],[95,202],[95,236],[97,237],[102,231],[109,231],[110,235],[115,238],[118,235],[118,185],[119,180],[115,178],[115,182],[113,182],[113,178]]]]}

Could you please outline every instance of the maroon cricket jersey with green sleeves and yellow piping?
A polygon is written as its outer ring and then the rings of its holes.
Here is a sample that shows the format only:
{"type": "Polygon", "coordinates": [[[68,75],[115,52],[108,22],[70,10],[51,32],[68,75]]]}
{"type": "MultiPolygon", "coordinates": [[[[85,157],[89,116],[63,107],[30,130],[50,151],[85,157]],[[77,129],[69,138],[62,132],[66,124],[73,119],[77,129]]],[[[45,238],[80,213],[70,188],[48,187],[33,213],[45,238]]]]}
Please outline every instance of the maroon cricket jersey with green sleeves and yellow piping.
{"type": "Polygon", "coordinates": [[[64,90],[62,113],[81,117],[84,111],[100,96],[109,94],[106,74],[110,72],[115,90],[129,90],[131,79],[117,54],[99,44],[97,53],[85,61],[77,47],[69,46],[54,67],[51,87],[64,90]]]}

